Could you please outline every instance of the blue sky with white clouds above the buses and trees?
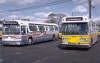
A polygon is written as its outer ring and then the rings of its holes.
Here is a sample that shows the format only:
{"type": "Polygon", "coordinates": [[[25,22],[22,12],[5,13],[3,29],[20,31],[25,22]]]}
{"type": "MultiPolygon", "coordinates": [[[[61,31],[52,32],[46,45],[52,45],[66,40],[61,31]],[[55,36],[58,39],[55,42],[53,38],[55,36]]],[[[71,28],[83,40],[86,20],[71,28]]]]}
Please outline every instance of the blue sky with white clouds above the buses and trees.
{"type": "MultiPolygon", "coordinates": [[[[93,20],[100,19],[100,0],[91,0],[93,20]],[[94,7],[94,8],[93,8],[94,7]]],[[[45,21],[50,13],[88,16],[88,0],[0,0],[0,20],[45,21]]]]}

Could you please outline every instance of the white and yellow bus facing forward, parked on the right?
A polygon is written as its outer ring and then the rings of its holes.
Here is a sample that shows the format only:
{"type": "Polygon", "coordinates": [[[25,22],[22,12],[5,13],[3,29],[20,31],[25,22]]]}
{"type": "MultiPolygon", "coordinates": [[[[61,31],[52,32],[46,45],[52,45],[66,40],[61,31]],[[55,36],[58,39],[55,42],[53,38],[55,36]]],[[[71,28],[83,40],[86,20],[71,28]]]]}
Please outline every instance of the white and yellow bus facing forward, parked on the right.
{"type": "Polygon", "coordinates": [[[69,16],[62,19],[61,45],[90,48],[98,39],[98,26],[87,16],[69,16]]]}

